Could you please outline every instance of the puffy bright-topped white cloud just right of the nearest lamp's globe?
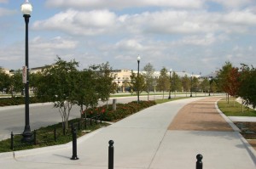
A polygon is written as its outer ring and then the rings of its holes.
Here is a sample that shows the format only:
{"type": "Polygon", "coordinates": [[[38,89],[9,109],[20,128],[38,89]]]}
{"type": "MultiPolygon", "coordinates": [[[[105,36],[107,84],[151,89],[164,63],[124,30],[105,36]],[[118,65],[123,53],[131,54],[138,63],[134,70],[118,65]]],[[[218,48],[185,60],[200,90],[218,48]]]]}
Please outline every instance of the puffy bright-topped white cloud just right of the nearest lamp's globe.
{"type": "Polygon", "coordinates": [[[73,35],[98,35],[106,31],[115,22],[115,14],[108,10],[79,12],[69,9],[55,14],[49,20],[36,21],[33,28],[65,31],[73,35]]]}

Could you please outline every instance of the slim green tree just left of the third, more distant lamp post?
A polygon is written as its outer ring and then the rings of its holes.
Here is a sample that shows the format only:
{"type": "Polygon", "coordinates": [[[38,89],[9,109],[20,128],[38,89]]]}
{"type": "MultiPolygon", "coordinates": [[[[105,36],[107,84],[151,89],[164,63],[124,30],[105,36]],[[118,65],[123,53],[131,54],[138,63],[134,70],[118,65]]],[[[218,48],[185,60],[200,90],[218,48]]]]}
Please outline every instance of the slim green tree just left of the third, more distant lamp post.
{"type": "Polygon", "coordinates": [[[157,79],[157,88],[163,92],[163,99],[165,96],[165,91],[167,91],[170,87],[170,79],[169,76],[167,75],[168,71],[166,68],[162,68],[160,70],[160,76],[157,79]]]}

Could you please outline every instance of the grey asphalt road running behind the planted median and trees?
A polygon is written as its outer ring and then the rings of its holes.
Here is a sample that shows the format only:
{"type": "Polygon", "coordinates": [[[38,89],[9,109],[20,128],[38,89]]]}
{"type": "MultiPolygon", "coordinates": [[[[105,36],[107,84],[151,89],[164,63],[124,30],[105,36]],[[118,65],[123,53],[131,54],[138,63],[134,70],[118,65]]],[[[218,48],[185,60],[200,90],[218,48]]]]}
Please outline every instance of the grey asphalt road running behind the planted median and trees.
{"type": "MultiPolygon", "coordinates": [[[[181,97],[182,95],[176,95],[181,97]]],[[[183,95],[185,96],[185,95],[183,95]]],[[[172,95],[174,97],[174,95],[172,95]]],[[[188,94],[189,97],[189,94],[188,94]]],[[[162,96],[150,96],[149,99],[161,99],[162,96]]],[[[165,95],[168,98],[168,94],[165,95]]],[[[113,99],[117,103],[128,103],[136,101],[137,96],[111,98],[108,103],[112,104],[113,99]]],[[[147,96],[140,96],[141,100],[147,100],[147,96]]],[[[100,103],[106,104],[106,103],[100,103]]],[[[69,119],[78,118],[80,116],[79,106],[73,105],[69,119]]],[[[47,127],[49,125],[61,122],[61,115],[53,104],[30,104],[30,127],[31,130],[38,129],[39,127],[47,127]]],[[[25,105],[0,107],[0,140],[9,138],[10,133],[22,133],[25,127],[25,105]]]]}

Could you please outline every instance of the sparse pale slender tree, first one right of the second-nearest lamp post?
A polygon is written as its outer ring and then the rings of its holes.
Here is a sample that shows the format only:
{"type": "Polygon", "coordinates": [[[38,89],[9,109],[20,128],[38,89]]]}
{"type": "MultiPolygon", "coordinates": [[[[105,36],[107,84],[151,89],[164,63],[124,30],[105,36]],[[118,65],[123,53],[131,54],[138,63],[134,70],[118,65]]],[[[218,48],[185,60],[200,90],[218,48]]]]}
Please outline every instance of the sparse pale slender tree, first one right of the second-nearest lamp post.
{"type": "Polygon", "coordinates": [[[148,100],[149,100],[149,92],[153,89],[153,82],[154,82],[154,67],[150,63],[144,66],[143,73],[144,79],[145,79],[145,89],[148,93],[148,100]]]}

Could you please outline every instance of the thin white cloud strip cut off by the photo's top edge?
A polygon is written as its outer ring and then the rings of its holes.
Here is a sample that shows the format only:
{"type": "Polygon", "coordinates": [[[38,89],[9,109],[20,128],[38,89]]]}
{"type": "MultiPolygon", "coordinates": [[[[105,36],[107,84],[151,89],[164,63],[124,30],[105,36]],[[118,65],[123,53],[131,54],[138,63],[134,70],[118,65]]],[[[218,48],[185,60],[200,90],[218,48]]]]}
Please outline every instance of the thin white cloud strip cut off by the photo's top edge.
{"type": "Polygon", "coordinates": [[[140,7],[172,7],[202,8],[204,0],[48,0],[49,7],[61,8],[140,8],[140,7]]]}

